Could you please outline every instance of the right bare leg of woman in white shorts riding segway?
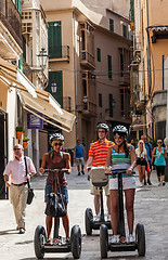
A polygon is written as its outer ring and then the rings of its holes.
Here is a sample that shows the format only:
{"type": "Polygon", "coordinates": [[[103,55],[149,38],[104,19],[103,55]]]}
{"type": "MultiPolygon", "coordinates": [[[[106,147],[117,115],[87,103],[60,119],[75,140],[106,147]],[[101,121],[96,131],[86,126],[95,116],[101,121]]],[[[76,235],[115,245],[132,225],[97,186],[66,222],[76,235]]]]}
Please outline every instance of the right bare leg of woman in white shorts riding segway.
{"type": "Polygon", "coordinates": [[[127,222],[129,234],[133,233],[133,222],[134,222],[134,211],[133,211],[133,204],[134,204],[134,188],[126,190],[126,210],[127,210],[127,222]]]}

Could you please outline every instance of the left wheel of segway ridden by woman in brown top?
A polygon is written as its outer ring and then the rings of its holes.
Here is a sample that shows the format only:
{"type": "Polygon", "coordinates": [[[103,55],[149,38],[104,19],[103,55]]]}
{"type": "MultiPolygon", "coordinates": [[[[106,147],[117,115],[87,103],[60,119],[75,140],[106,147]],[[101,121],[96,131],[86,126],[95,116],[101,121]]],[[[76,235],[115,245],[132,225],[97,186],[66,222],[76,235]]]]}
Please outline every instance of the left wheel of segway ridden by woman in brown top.
{"type": "Polygon", "coordinates": [[[42,225],[38,225],[35,231],[34,248],[38,259],[44,257],[44,242],[47,239],[46,230],[42,225]]]}

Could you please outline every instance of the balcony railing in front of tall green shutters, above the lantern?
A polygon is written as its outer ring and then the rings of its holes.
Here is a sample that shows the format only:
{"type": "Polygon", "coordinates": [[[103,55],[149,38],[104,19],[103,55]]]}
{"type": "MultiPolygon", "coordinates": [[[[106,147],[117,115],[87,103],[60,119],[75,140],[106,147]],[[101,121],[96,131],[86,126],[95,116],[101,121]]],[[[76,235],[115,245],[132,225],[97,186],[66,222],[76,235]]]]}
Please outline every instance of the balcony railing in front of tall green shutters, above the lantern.
{"type": "Polygon", "coordinates": [[[69,61],[69,47],[68,46],[49,47],[49,58],[64,58],[69,61]]]}

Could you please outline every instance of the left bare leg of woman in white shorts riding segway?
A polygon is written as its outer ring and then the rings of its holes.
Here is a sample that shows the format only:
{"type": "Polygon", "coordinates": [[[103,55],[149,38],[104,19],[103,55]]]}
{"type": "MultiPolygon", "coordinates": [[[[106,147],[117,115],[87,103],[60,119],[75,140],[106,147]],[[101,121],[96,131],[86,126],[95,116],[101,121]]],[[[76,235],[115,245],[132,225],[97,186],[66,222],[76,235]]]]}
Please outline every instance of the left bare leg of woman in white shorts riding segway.
{"type": "Polygon", "coordinates": [[[111,222],[113,235],[117,235],[117,225],[118,225],[118,191],[109,191],[109,200],[111,200],[111,222]]]}

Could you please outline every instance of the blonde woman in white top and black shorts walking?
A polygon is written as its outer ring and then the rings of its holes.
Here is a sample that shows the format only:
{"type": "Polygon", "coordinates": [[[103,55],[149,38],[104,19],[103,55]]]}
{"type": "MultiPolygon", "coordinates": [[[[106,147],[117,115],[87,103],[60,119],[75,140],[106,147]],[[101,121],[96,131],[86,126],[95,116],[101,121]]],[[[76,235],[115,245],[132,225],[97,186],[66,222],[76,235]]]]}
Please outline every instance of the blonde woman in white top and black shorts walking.
{"type": "Polygon", "coordinates": [[[140,186],[146,185],[145,181],[145,165],[147,162],[147,153],[144,146],[144,142],[142,140],[138,143],[138,148],[135,150],[135,156],[137,156],[137,168],[139,170],[139,180],[140,180],[140,186]],[[143,183],[144,180],[144,183],[143,183]]]}

